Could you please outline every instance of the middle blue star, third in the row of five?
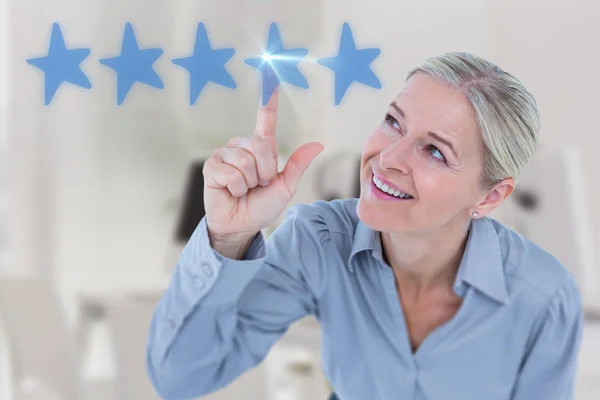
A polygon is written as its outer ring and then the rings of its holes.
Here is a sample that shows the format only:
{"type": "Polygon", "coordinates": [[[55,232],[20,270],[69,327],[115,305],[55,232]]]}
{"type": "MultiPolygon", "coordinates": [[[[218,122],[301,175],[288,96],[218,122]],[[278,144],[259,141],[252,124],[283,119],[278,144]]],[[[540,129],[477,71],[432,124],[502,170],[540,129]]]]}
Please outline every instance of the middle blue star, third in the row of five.
{"type": "Polygon", "coordinates": [[[225,63],[233,57],[235,49],[213,49],[208,40],[206,27],[198,24],[194,53],[190,57],[176,58],[173,64],[187,69],[190,73],[190,105],[196,103],[202,89],[208,82],[235,89],[236,84],[225,63]]]}

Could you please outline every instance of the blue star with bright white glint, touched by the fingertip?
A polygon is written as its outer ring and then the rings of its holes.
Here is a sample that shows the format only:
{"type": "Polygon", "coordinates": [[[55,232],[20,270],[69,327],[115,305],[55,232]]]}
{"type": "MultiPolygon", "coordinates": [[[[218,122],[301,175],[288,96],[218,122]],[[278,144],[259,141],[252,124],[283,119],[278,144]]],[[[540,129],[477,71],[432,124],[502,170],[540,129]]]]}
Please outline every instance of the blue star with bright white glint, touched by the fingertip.
{"type": "Polygon", "coordinates": [[[298,63],[306,56],[308,49],[284,49],[275,23],[271,23],[267,49],[261,57],[248,58],[244,62],[262,73],[262,99],[267,104],[279,82],[287,82],[303,89],[308,81],[298,70],[298,63]]]}

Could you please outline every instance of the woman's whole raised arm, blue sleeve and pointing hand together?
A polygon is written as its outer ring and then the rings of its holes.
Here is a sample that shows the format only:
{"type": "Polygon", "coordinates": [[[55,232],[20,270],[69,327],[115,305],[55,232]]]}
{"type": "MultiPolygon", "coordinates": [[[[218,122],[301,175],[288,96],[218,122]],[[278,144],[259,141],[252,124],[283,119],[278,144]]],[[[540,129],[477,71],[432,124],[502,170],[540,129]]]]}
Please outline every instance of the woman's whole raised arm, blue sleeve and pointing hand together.
{"type": "Polygon", "coordinates": [[[299,180],[321,152],[297,149],[277,168],[278,90],[258,112],[254,135],[234,138],[205,162],[206,216],[184,248],[152,319],[147,371],[165,399],[220,389],[262,361],[288,326],[315,311],[307,283],[322,265],[325,225],[298,205],[268,243],[299,180]]]}

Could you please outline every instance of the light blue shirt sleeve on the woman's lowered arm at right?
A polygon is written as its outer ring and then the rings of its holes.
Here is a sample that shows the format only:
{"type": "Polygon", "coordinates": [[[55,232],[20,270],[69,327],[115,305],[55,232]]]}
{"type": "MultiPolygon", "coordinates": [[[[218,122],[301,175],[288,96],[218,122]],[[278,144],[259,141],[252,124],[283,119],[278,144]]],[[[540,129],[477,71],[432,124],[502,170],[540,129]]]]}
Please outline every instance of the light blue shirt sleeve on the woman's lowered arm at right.
{"type": "Polygon", "coordinates": [[[583,304],[571,279],[553,296],[521,366],[512,400],[573,400],[583,304]]]}

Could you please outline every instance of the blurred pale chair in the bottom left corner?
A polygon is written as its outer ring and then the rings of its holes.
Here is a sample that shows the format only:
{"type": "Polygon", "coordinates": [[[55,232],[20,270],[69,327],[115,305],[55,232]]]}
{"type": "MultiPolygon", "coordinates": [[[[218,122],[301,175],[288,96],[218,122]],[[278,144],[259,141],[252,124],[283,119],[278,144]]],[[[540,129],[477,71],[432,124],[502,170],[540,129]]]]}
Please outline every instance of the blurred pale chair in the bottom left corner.
{"type": "Polygon", "coordinates": [[[111,380],[82,378],[82,349],[66,324],[51,284],[34,277],[0,277],[0,318],[15,400],[114,399],[111,380]]]}

